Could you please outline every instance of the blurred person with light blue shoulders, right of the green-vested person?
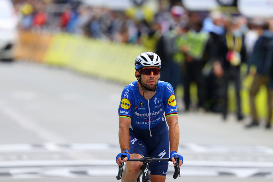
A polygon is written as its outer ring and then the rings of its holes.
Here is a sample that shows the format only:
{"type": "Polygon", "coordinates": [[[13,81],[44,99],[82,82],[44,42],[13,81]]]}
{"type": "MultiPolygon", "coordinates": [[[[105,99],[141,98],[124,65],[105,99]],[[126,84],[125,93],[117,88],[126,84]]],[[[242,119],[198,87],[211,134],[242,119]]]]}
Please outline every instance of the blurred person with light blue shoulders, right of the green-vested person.
{"type": "MultiPolygon", "coordinates": [[[[209,38],[205,46],[203,60],[211,64],[212,69],[206,75],[206,109],[214,112],[223,110],[223,99],[221,95],[223,68],[218,59],[219,47],[221,45],[221,37],[224,34],[224,26],[229,26],[229,17],[219,11],[213,11],[209,17],[203,21],[202,31],[209,32],[209,38]]],[[[210,66],[208,66],[209,69],[210,66]]]]}

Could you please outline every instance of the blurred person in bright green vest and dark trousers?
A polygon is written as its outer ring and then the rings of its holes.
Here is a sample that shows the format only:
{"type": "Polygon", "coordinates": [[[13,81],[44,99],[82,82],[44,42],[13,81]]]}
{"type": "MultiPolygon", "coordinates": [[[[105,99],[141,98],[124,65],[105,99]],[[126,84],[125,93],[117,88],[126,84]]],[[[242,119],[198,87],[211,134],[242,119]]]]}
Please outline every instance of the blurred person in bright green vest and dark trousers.
{"type": "Polygon", "coordinates": [[[195,30],[190,25],[184,28],[184,34],[177,38],[177,44],[180,51],[183,53],[184,59],[184,102],[185,110],[190,108],[190,84],[195,81],[197,84],[197,107],[203,107],[205,102],[205,78],[202,75],[202,69],[205,61],[202,59],[204,47],[208,40],[207,32],[199,32],[202,24],[195,22],[192,24],[195,30]],[[195,32],[198,31],[198,32],[195,32]]]}

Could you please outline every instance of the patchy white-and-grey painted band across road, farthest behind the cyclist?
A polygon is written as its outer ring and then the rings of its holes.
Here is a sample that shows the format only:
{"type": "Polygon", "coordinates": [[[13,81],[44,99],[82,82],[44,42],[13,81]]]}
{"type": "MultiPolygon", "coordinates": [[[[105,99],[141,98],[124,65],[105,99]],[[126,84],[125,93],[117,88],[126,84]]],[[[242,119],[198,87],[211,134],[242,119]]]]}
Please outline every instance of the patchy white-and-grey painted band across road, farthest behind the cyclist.
{"type": "MultiPolygon", "coordinates": [[[[41,144],[0,144],[0,152],[40,152],[46,151],[70,151],[70,150],[110,150],[117,149],[118,145],[111,145],[107,143],[41,143],[41,144]]],[[[273,149],[266,146],[223,146],[223,145],[197,145],[197,144],[183,144],[179,146],[179,151],[189,151],[198,153],[244,153],[244,154],[273,154],[273,149]]]]}

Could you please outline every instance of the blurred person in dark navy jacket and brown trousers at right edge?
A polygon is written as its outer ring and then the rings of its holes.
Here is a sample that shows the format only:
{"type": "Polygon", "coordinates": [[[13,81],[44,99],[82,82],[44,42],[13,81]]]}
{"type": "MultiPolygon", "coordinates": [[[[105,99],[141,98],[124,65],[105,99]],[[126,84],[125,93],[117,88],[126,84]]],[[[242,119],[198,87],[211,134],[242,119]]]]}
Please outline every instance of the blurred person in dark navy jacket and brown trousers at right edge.
{"type": "MultiPolygon", "coordinates": [[[[272,90],[269,88],[270,82],[270,73],[268,71],[268,63],[266,63],[266,59],[268,58],[268,54],[272,50],[272,40],[273,40],[273,33],[269,30],[269,24],[265,23],[263,27],[262,36],[260,36],[255,44],[254,51],[252,53],[251,59],[249,61],[249,66],[255,65],[257,70],[256,74],[254,75],[254,80],[252,82],[251,88],[249,90],[249,99],[251,105],[251,115],[252,121],[248,125],[247,128],[255,127],[259,125],[258,116],[256,112],[255,106],[255,96],[258,93],[260,86],[262,84],[267,86],[267,106],[268,106],[268,118],[266,120],[266,128],[270,128],[270,121],[272,119],[272,90]]],[[[272,61],[272,60],[269,60],[272,61]]],[[[253,71],[250,71],[250,74],[254,74],[253,71]]]]}

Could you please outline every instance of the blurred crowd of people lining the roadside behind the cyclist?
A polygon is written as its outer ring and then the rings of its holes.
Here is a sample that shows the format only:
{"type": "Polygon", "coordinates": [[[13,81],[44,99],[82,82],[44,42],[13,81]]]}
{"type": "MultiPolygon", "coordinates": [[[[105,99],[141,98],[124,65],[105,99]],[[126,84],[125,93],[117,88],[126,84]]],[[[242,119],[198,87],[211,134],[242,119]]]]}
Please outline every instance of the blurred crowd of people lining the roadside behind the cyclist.
{"type": "Polygon", "coordinates": [[[273,19],[246,18],[239,13],[190,12],[181,1],[158,0],[157,9],[134,1],[127,10],[92,7],[72,0],[14,0],[21,29],[65,31],[121,43],[142,44],[162,60],[161,80],[184,89],[191,109],[190,85],[197,84],[198,105],[228,116],[229,81],[235,83],[237,119],[243,119],[241,83],[254,77],[249,90],[252,121],[259,125],[255,96],[267,87],[271,127],[273,104],[273,19]],[[54,10],[52,10],[54,9],[54,10]],[[245,69],[243,69],[243,67],[245,69]]]}

